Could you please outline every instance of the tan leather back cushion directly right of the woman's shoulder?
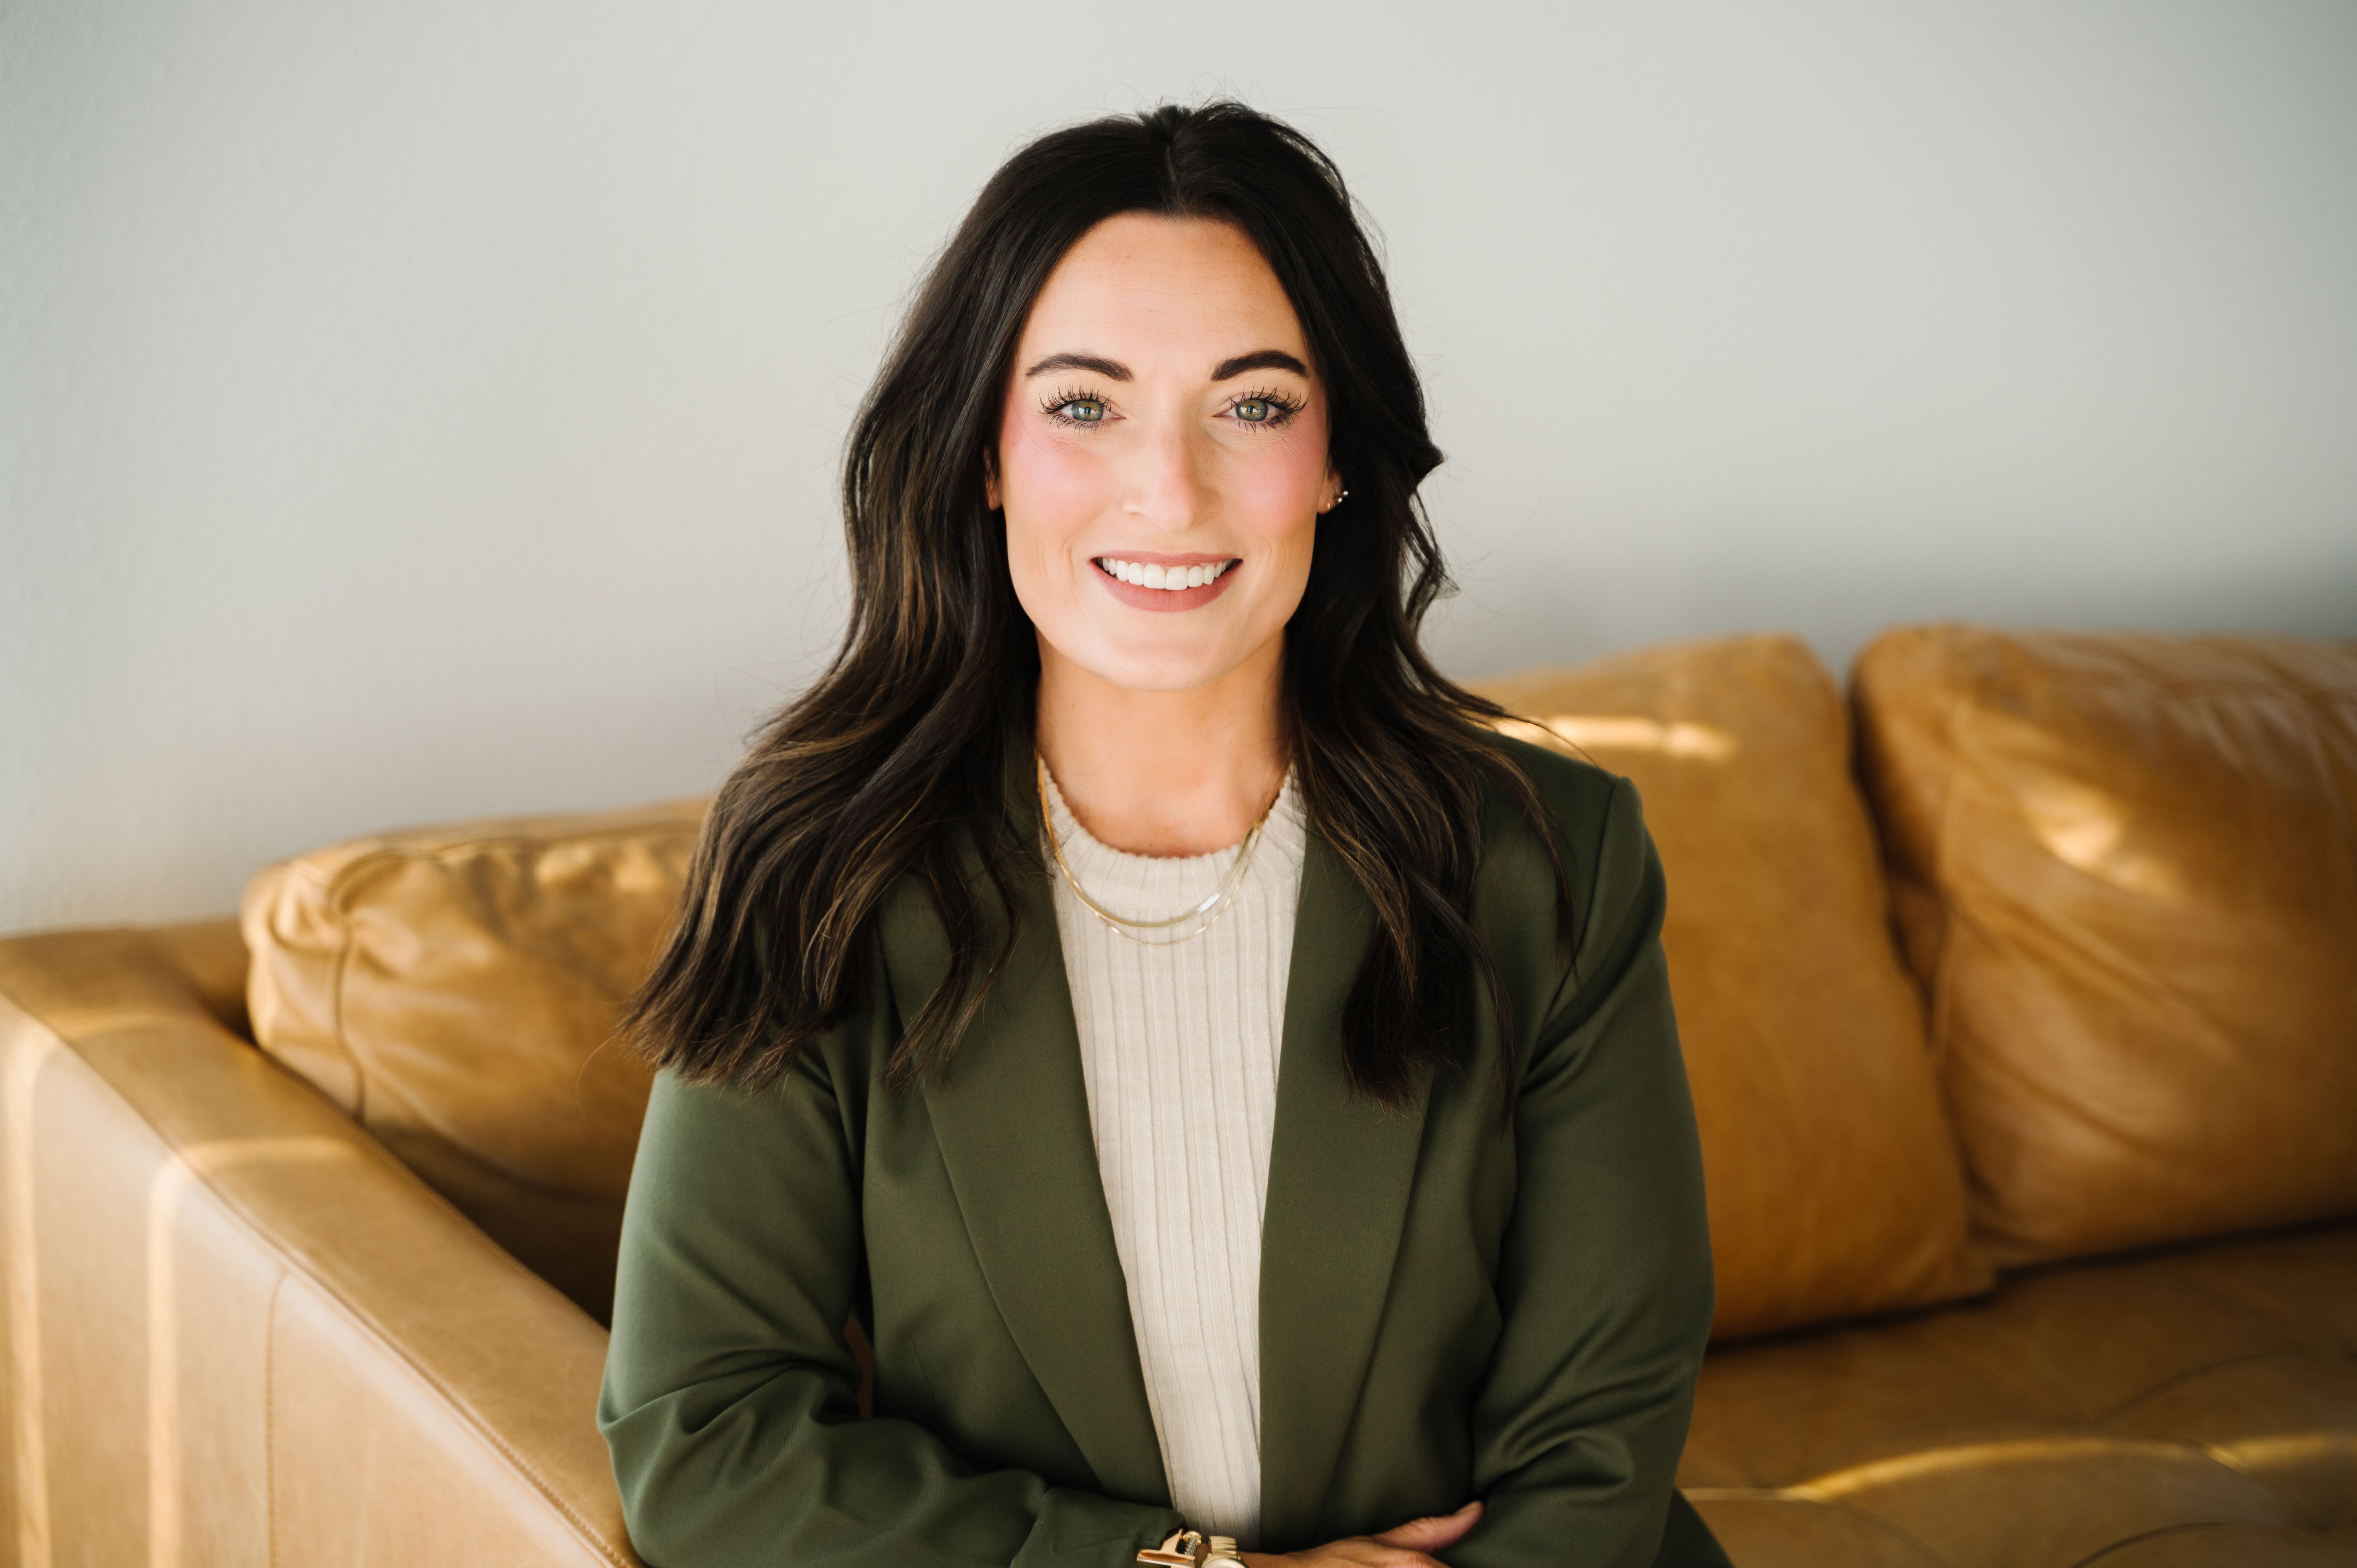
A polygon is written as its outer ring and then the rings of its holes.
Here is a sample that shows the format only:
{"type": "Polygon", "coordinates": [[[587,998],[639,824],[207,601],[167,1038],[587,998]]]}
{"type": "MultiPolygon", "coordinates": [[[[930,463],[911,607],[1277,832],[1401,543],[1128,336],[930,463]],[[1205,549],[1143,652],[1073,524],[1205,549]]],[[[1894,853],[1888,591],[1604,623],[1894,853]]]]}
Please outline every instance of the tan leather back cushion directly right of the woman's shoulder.
{"type": "Polygon", "coordinates": [[[1987,1287],[1834,679],[1789,637],[1478,684],[1626,773],[1669,877],[1716,1335],[1987,1287]]]}

